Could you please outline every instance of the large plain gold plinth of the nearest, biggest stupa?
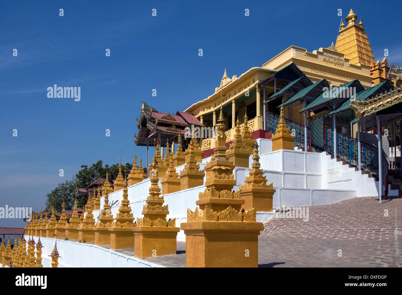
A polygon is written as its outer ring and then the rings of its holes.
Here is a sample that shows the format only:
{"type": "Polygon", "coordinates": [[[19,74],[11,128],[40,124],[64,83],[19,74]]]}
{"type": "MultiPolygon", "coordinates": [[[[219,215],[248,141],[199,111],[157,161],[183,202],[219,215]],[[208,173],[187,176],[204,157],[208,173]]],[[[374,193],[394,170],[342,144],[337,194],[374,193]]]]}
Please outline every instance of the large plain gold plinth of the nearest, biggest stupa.
{"type": "Polygon", "coordinates": [[[180,229],[186,235],[186,267],[258,267],[262,222],[185,222],[180,229]]]}

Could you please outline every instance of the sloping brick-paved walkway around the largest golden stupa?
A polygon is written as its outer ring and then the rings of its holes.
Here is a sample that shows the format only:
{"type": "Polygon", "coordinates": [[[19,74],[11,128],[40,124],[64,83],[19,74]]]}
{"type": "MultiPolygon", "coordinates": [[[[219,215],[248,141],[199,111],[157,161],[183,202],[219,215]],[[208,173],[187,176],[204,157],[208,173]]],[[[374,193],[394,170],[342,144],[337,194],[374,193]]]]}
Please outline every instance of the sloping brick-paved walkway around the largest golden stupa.
{"type": "MultiPolygon", "coordinates": [[[[401,267],[401,197],[383,204],[365,197],[312,206],[308,217],[307,222],[273,218],[265,224],[258,242],[259,267],[401,267]]],[[[176,255],[146,260],[184,267],[185,243],[178,242],[177,250],[176,255]]]]}

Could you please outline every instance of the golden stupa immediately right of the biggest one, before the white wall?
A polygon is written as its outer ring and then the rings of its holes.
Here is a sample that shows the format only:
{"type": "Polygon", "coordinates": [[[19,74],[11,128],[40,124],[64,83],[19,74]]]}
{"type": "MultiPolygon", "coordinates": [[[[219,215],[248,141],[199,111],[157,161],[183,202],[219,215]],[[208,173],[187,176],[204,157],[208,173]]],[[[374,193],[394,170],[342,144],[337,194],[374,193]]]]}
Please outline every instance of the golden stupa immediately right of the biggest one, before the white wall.
{"type": "Polygon", "coordinates": [[[253,148],[254,161],[249,172],[250,176],[246,177],[244,185],[240,184],[240,196],[245,201],[242,209],[248,211],[255,208],[257,212],[273,212],[272,197],[276,190],[273,188],[273,183],[267,185],[267,177],[263,176],[257,140],[254,140],[253,148]]]}

